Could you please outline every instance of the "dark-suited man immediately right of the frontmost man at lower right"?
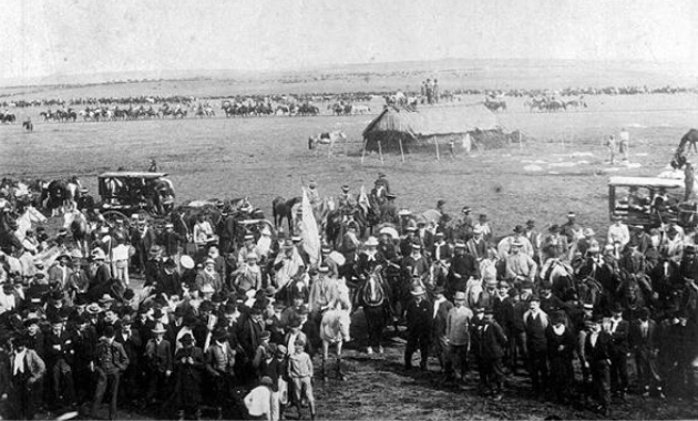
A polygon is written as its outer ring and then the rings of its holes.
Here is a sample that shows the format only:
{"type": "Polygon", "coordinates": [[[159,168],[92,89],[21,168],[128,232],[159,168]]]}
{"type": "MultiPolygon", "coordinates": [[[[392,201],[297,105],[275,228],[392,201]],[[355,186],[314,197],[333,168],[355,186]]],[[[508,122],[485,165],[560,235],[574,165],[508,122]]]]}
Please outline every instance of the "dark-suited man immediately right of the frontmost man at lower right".
{"type": "Polygon", "coordinates": [[[628,389],[628,333],[630,324],[623,319],[623,307],[618,302],[612,310],[610,318],[610,389],[625,401],[628,389]]]}

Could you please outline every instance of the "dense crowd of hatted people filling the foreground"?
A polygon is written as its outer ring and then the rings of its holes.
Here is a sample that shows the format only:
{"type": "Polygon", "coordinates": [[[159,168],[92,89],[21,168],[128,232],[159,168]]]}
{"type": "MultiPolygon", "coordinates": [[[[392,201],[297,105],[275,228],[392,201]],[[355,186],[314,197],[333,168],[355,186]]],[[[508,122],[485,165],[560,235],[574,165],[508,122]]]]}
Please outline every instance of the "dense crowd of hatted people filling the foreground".
{"type": "MultiPolygon", "coordinates": [[[[25,250],[3,250],[3,417],[83,408],[96,418],[105,400],[111,419],[124,407],[315,418],[322,315],[361,307],[360,351],[383,353],[392,322],[407,339],[404,370],[419,350],[421,370],[435,357],[444,386],[474,382],[493,400],[512,376],[530,377],[536,399],[604,415],[629,392],[696,399],[695,232],[617,219],[604,242],[569,213],[545,232],[530,219],[507,233],[469,206],[449,216],[445,201],[419,215],[399,208],[382,174],[374,191],[387,199],[376,237],[361,240],[345,212],[343,234],[316,258],[300,236],[269,229],[226,249],[209,233],[192,249],[171,224],[160,232],[138,217],[95,229],[86,257],[65,230],[43,233],[34,253],[62,251],[28,276],[17,269],[25,250]],[[377,290],[384,299],[373,301],[377,290]]],[[[359,206],[342,192],[340,208],[359,206]]]]}

